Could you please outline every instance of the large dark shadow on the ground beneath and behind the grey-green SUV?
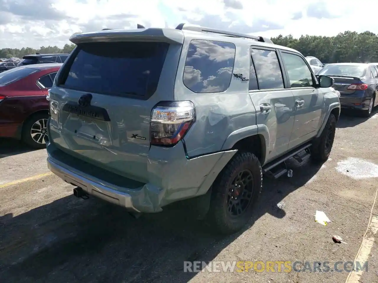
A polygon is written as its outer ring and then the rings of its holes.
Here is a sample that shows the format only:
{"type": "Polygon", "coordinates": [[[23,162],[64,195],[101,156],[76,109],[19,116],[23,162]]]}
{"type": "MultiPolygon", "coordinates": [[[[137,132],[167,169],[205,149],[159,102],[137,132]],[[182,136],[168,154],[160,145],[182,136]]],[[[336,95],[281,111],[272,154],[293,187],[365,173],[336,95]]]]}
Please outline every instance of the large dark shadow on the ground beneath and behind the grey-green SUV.
{"type": "MultiPolygon", "coordinates": [[[[265,178],[255,215],[242,231],[216,235],[203,221],[170,206],[138,219],[90,198],[60,198],[0,217],[0,278],[8,282],[187,282],[184,261],[213,260],[266,213],[285,217],[282,200],[307,183],[320,165],[287,162],[293,177],[265,178]]],[[[252,227],[251,227],[252,226],[252,227]]]]}

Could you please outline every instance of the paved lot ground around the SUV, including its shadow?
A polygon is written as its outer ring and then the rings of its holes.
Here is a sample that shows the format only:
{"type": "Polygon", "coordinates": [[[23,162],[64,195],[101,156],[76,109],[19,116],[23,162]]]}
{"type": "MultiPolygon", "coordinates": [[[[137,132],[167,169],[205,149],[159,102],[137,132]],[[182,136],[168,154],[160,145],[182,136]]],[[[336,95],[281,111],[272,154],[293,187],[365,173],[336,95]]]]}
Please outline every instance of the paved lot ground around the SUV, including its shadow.
{"type": "MultiPolygon", "coordinates": [[[[336,261],[353,261],[377,188],[377,126],[378,114],[370,119],[343,114],[330,159],[322,166],[290,161],[292,178],[265,179],[250,225],[228,237],[215,236],[174,206],[134,219],[93,197],[77,199],[73,186],[54,175],[17,183],[48,172],[46,152],[2,140],[0,278],[54,283],[344,283],[347,272],[183,272],[183,267],[184,261],[300,261],[297,268],[303,268],[307,261],[328,261],[332,269],[336,261]],[[14,183],[5,186],[9,182],[14,183]],[[316,210],[330,218],[327,226],[314,221],[316,210]],[[345,243],[334,243],[333,235],[345,243]]],[[[372,216],[378,223],[378,203],[372,216]]],[[[378,282],[376,230],[378,226],[370,227],[366,237],[371,251],[361,250],[367,253],[368,272],[349,282],[378,282]]]]}

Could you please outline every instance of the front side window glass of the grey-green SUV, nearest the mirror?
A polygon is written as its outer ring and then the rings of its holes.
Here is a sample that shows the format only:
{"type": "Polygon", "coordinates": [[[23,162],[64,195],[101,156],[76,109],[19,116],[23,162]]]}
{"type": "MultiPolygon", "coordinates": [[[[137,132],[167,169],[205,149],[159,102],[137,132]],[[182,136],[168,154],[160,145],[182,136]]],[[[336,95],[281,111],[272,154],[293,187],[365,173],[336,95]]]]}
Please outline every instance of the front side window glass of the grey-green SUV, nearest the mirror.
{"type": "Polygon", "coordinates": [[[313,85],[310,68],[308,68],[302,57],[285,52],[282,52],[281,56],[292,88],[303,88],[313,85]]]}

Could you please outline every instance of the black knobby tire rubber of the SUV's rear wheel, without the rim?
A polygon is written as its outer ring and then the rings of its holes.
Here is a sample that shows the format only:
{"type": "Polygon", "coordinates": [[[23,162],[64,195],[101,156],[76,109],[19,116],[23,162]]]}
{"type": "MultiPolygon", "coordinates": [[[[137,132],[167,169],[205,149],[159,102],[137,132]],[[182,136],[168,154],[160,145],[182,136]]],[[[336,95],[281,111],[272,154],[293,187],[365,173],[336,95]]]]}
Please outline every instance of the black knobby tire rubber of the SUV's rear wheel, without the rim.
{"type": "Polygon", "coordinates": [[[254,206],[262,189],[262,169],[259,159],[250,152],[237,152],[223,168],[212,186],[208,221],[221,234],[233,234],[243,228],[251,219],[254,206]],[[232,218],[228,210],[228,192],[235,177],[244,170],[252,175],[253,191],[245,211],[237,218],[232,218]]]}

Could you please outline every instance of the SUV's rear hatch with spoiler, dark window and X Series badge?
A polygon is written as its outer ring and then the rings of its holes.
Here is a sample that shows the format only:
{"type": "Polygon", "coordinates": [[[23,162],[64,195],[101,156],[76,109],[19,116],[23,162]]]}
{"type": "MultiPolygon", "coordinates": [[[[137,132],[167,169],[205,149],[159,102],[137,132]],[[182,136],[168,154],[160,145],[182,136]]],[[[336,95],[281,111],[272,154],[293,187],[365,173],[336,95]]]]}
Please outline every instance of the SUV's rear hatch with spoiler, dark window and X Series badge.
{"type": "Polygon", "coordinates": [[[151,111],[173,100],[183,42],[178,32],[113,30],[71,38],[77,47],[50,91],[50,140],[72,157],[146,182],[151,111]]]}

